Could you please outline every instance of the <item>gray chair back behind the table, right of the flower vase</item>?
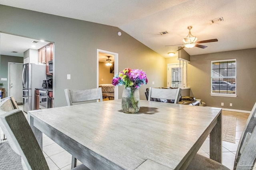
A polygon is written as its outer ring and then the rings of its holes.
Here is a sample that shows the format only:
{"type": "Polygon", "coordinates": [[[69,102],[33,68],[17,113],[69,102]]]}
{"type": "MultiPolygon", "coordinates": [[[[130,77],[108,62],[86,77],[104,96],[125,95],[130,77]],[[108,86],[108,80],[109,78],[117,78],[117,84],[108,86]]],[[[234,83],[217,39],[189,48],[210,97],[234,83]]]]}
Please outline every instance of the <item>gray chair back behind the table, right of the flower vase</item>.
{"type": "Polygon", "coordinates": [[[151,98],[174,100],[175,104],[179,103],[181,88],[165,89],[165,88],[149,88],[148,101],[151,98]]]}

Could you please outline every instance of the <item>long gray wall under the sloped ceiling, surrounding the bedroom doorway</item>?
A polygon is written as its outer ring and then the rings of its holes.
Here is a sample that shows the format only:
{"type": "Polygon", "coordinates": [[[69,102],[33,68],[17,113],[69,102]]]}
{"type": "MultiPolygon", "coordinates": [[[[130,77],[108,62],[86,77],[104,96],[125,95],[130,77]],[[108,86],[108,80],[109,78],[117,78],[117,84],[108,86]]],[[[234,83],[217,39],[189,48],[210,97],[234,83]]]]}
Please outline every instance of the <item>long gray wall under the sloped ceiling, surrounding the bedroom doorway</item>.
{"type": "Polygon", "coordinates": [[[119,54],[118,71],[126,67],[146,71],[149,82],[140,88],[142,100],[152,81],[159,87],[166,82],[165,58],[117,27],[0,5],[0,31],[54,42],[55,106],[67,105],[65,88],[96,88],[97,49],[119,54]]]}

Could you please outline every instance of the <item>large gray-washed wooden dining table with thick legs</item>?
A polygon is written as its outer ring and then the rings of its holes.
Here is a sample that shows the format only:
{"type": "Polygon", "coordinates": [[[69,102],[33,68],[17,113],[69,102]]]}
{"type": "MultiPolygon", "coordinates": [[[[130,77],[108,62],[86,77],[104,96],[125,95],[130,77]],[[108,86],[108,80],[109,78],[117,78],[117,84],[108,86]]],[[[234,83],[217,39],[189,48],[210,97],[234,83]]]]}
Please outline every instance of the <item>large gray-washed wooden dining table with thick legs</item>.
{"type": "MultiPolygon", "coordinates": [[[[222,109],[140,100],[136,114],[122,99],[28,111],[42,133],[90,169],[186,169],[206,138],[210,158],[222,162],[222,109]]],[[[70,160],[71,163],[71,160],[70,160]]]]}

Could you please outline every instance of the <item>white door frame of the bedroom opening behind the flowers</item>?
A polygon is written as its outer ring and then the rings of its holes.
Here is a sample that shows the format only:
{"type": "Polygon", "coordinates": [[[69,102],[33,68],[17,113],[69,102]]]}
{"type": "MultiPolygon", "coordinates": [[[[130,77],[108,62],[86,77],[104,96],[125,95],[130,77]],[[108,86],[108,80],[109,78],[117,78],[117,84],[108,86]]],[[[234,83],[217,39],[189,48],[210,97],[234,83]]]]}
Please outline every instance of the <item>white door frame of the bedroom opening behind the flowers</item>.
{"type": "MultiPolygon", "coordinates": [[[[99,87],[99,52],[114,55],[114,75],[118,74],[118,53],[97,49],[97,88],[99,87]]],[[[118,100],[118,86],[115,86],[114,100],[118,100]]]]}

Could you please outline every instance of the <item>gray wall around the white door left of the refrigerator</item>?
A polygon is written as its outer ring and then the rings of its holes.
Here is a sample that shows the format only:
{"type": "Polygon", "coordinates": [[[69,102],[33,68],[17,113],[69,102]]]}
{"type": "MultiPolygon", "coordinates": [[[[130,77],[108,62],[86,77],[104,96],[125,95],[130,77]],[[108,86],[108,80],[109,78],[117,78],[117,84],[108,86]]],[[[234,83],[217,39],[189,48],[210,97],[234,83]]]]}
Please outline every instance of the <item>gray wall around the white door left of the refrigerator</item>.
{"type": "Polygon", "coordinates": [[[23,57],[0,55],[0,83],[4,84],[5,96],[8,96],[8,62],[23,63],[23,57]],[[7,78],[7,81],[1,81],[1,78],[7,78]]]}

